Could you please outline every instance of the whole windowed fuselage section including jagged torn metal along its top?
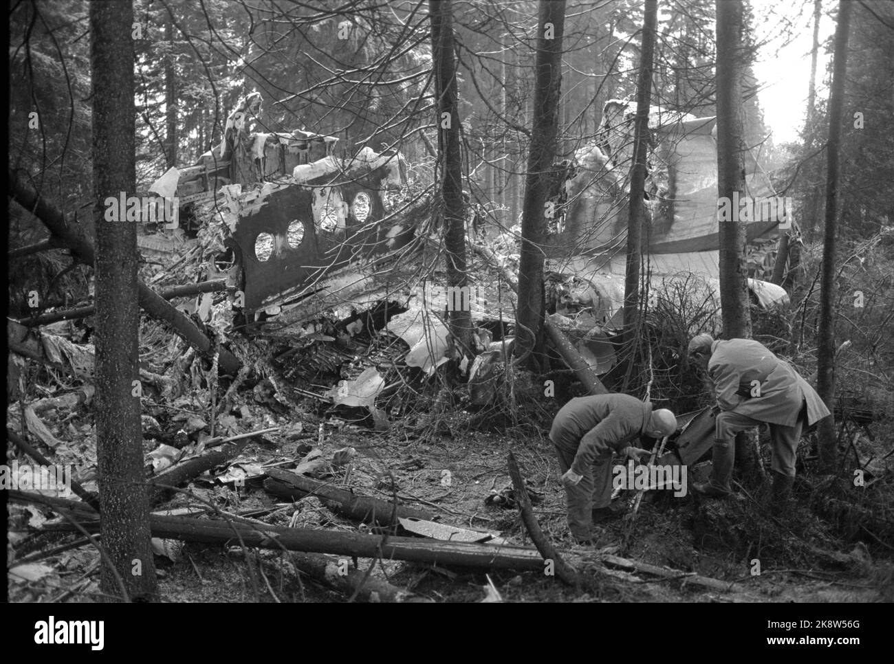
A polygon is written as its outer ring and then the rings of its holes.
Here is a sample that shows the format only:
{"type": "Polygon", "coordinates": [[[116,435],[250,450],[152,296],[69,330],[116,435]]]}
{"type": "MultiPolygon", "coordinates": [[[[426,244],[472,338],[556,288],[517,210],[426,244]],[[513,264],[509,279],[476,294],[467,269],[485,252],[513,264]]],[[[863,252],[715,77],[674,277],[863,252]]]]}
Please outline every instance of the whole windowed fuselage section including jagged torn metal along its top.
{"type": "Polygon", "coordinates": [[[244,98],[218,146],[152,188],[181,206],[214,204],[249,323],[301,299],[321,312],[375,290],[382,265],[414,237],[412,223],[396,221],[406,215],[389,214],[388,193],[406,185],[400,153],[361,147],[339,158],[332,136],[249,131],[260,105],[257,93],[244,98]]]}

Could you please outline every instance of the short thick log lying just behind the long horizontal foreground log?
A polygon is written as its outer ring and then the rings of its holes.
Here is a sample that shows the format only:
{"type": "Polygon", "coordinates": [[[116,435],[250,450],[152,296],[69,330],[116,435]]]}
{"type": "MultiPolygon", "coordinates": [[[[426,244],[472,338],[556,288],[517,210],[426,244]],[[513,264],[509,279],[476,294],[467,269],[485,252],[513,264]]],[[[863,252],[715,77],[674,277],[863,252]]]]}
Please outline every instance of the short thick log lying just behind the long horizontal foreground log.
{"type": "Polygon", "coordinates": [[[420,518],[432,520],[432,515],[415,508],[397,506],[395,521],[392,523],[394,506],[386,500],[361,496],[332,484],[320,482],[305,475],[296,475],[280,468],[267,470],[269,477],[264,481],[264,490],[281,498],[301,499],[316,496],[327,508],[342,517],[360,523],[397,525],[399,518],[420,518]]]}

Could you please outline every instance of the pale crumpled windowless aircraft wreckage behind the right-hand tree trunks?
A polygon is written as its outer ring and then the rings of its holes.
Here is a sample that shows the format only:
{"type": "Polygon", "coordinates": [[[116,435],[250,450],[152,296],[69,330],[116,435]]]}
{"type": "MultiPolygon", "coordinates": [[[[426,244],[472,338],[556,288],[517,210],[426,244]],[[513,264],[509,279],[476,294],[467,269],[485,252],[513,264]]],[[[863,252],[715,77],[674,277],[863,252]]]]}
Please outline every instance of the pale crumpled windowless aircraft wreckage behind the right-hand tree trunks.
{"type": "MultiPolygon", "coordinates": [[[[558,282],[553,306],[559,313],[562,305],[579,300],[579,307],[566,307],[563,315],[573,318],[586,309],[585,326],[614,329],[621,324],[634,116],[629,102],[611,100],[603,111],[599,140],[578,149],[573,161],[554,167],[563,177],[553,191],[555,223],[544,246],[547,266],[559,277],[553,280],[558,282]]],[[[706,293],[719,311],[716,118],[653,107],[649,130],[644,263],[650,297],[682,287],[694,297],[706,293]]],[[[796,228],[790,204],[777,204],[772,183],[754,156],[746,154],[745,163],[742,197],[747,194],[754,202],[753,209],[746,208],[752,214],[742,220],[748,240],[796,228]]],[[[763,307],[788,302],[784,289],[756,274],[748,287],[763,307]]]]}

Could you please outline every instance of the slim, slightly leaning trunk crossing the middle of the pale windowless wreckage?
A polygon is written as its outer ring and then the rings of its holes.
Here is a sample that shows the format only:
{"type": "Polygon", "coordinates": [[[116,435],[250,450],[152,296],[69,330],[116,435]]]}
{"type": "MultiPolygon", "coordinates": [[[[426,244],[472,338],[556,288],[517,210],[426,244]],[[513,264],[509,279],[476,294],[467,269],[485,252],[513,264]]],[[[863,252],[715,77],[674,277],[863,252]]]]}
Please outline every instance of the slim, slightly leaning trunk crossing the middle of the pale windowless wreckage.
{"type": "Polygon", "coordinates": [[[655,45],[657,0],[645,0],[643,51],[637,81],[637,119],[634,124],[633,169],[630,172],[630,206],[627,224],[627,272],[624,278],[624,340],[634,339],[639,308],[639,269],[643,253],[645,222],[645,170],[649,137],[649,106],[652,101],[652,54],[655,45]]]}

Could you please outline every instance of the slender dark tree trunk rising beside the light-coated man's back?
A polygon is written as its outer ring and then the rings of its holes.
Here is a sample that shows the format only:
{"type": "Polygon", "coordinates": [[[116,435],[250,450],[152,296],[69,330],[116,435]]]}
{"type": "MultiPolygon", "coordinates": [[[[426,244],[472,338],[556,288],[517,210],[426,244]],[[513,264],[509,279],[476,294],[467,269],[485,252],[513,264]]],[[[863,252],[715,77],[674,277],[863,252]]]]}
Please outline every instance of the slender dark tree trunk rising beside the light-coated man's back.
{"type": "MultiPolygon", "coordinates": [[[[838,25],[835,28],[835,63],[829,98],[829,142],[826,163],[826,217],[822,239],[822,275],[820,280],[820,329],[817,339],[816,391],[826,408],[835,412],[835,234],[839,215],[839,147],[843,121],[845,71],[848,63],[849,2],[839,2],[838,25]]],[[[835,468],[838,458],[835,436],[835,416],[820,422],[820,459],[828,472],[835,468]]]]}

